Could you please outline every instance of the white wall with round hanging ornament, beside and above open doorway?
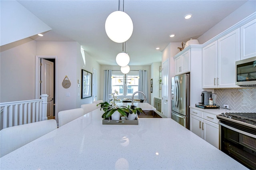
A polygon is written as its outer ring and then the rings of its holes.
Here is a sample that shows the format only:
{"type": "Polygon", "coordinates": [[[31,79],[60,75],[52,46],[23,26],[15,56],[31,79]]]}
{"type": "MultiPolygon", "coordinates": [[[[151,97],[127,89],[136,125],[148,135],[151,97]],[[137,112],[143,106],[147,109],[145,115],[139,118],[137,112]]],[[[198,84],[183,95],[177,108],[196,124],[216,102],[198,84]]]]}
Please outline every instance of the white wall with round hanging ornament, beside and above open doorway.
{"type": "Polygon", "coordinates": [[[57,113],[76,108],[76,57],[79,55],[76,47],[78,45],[77,42],[36,42],[36,55],[56,55],[58,58],[56,63],[57,113]],[[62,87],[62,81],[66,75],[71,82],[68,89],[62,87]],[[70,97],[66,97],[66,93],[70,93],[70,97]]]}

